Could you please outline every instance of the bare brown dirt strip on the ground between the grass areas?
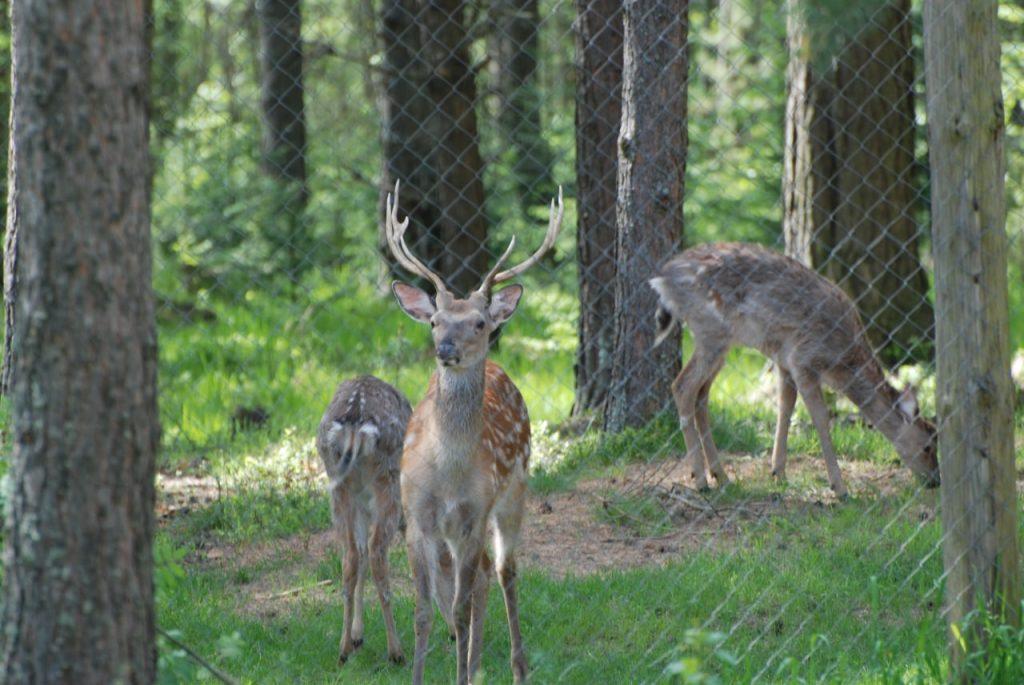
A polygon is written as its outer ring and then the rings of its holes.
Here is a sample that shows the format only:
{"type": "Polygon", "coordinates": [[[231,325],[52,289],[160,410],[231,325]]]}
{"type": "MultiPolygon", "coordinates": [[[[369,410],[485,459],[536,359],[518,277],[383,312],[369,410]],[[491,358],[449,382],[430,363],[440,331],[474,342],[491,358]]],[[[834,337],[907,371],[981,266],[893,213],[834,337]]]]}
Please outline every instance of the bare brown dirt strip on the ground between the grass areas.
{"type": "MultiPolygon", "coordinates": [[[[697,493],[688,486],[682,462],[668,460],[631,465],[615,476],[581,480],[568,491],[531,494],[519,563],[556,576],[663,565],[686,551],[734,544],[751,522],[801,511],[825,512],[838,504],[819,459],[791,459],[791,484],[785,487],[769,484],[767,469],[763,459],[733,456],[727,470],[733,481],[742,484],[697,493]],[[643,519],[628,506],[638,498],[648,505],[654,503],[643,519]]],[[[890,495],[911,479],[905,469],[865,462],[845,462],[842,469],[854,497],[890,495]]],[[[161,478],[159,493],[158,512],[170,518],[209,504],[221,489],[209,478],[172,476],[161,478]]],[[[934,516],[935,502],[935,496],[926,495],[914,515],[934,516]]],[[[260,544],[210,543],[187,562],[225,570],[263,569],[239,585],[240,606],[272,616],[293,602],[318,601],[335,591],[333,582],[313,585],[308,581],[310,569],[334,547],[331,531],[311,531],[260,544]]],[[[397,594],[411,592],[406,564],[393,564],[392,584],[397,594]]]]}

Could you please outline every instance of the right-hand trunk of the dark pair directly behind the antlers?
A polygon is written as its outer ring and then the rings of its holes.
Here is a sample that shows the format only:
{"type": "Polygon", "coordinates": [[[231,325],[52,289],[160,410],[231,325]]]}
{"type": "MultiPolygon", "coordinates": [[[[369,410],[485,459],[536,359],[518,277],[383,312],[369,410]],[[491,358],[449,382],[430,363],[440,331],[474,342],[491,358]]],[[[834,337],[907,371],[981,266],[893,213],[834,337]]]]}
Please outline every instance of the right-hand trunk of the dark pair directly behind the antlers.
{"type": "Polygon", "coordinates": [[[487,216],[483,158],[476,126],[476,70],[469,54],[464,0],[422,0],[423,53],[430,71],[426,92],[431,114],[426,126],[436,174],[444,246],[440,273],[460,295],[476,288],[487,271],[487,216]]]}

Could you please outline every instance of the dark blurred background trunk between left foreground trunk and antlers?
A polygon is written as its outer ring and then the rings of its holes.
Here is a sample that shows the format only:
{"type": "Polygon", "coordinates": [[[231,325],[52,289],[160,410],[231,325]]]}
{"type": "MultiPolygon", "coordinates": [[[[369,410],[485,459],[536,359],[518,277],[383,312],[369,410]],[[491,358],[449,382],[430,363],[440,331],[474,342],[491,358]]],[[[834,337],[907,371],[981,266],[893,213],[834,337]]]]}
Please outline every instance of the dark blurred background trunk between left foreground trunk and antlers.
{"type": "Polygon", "coordinates": [[[305,268],[311,249],[303,225],[306,186],[305,87],[302,67],[302,0],[256,0],[260,43],[260,111],[263,168],[280,181],[275,214],[284,222],[268,229],[287,256],[292,281],[305,268]]]}

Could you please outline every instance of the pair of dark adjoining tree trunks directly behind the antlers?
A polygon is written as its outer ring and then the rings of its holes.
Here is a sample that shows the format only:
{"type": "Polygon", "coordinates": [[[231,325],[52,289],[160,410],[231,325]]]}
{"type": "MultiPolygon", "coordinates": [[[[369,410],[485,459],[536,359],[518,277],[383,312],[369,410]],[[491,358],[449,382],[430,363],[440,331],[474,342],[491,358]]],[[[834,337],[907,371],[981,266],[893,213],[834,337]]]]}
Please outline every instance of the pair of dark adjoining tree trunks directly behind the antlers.
{"type": "Polygon", "coordinates": [[[466,7],[465,0],[387,0],[382,10],[382,198],[401,180],[407,242],[461,295],[479,285],[489,262],[466,7]]]}

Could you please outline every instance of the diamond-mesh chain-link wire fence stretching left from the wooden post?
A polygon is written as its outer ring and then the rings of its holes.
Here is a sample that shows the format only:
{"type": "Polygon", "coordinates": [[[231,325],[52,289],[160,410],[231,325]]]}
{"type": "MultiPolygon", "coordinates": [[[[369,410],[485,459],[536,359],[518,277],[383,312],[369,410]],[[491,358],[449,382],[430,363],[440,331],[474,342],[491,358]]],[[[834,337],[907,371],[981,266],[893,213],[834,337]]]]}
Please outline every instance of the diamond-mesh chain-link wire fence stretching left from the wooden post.
{"type": "MultiPolygon", "coordinates": [[[[306,498],[323,505],[306,561],[335,554],[313,436],[338,382],[374,374],[415,405],[434,370],[427,327],[389,292],[424,284],[383,243],[385,195],[400,179],[410,248],[461,295],[511,237],[512,261],[541,244],[561,185],[561,233],[490,354],[532,423],[518,558],[534,679],[926,681],[914,654],[946,639],[939,490],[900,460],[928,451],[908,431],[934,421],[942,353],[920,3],[626,5],[155,3],[162,512],[173,524],[197,503],[306,498]],[[732,328],[689,320],[652,348],[648,279],[714,242],[790,255],[845,295],[769,253],[711,250],[677,274],[679,297],[732,328]],[[862,331],[836,309],[846,297],[862,331]],[[877,362],[844,366],[865,349],[877,362]],[[730,484],[697,487],[690,460],[702,471],[712,441],[730,484]]],[[[1006,3],[999,19],[1017,349],[1024,10],[1006,3]]],[[[410,571],[392,556],[410,651],[410,571]]],[[[239,592],[280,619],[288,585],[239,592]]],[[[313,596],[340,635],[340,593],[313,596]]],[[[377,613],[368,602],[367,640],[383,644],[377,613]]],[[[483,668],[504,680],[502,623],[483,668]]]]}

